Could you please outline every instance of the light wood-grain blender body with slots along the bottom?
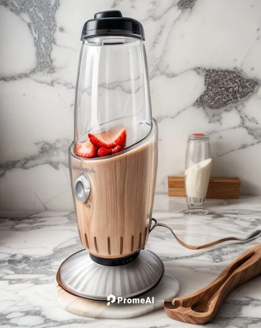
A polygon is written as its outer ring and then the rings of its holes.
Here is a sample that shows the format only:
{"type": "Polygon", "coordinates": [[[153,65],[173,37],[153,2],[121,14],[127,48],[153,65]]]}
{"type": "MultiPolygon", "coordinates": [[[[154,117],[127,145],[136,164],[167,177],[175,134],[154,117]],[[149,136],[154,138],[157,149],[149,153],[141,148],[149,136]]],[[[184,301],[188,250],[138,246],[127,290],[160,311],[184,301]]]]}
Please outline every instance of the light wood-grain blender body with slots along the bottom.
{"type": "Polygon", "coordinates": [[[82,245],[102,258],[135,253],[147,242],[153,210],[158,128],[153,121],[148,136],[120,154],[84,159],[69,150],[70,174],[77,225],[82,245]],[[80,174],[91,183],[88,200],[77,200],[74,183],[80,174]]]}

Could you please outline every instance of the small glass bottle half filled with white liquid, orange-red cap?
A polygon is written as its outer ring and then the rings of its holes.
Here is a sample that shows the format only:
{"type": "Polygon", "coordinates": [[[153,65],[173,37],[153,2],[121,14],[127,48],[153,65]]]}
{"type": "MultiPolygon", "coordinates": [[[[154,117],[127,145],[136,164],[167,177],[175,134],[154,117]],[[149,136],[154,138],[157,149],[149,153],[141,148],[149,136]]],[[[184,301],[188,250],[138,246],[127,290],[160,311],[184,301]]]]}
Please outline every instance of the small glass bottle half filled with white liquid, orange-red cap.
{"type": "Polygon", "coordinates": [[[195,214],[207,214],[203,207],[207,194],[211,151],[209,137],[197,133],[188,136],[185,161],[185,192],[188,210],[195,214]]]}

